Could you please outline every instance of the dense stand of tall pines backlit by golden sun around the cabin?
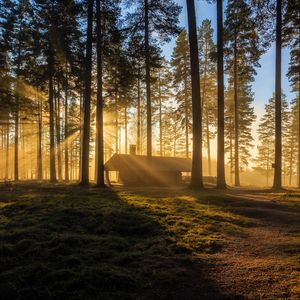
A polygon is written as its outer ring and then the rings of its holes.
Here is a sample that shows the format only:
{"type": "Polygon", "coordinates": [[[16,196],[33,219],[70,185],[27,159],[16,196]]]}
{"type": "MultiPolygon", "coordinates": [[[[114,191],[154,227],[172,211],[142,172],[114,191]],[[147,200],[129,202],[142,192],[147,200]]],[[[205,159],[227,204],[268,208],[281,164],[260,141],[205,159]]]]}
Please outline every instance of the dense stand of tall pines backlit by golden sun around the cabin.
{"type": "Polygon", "coordinates": [[[171,0],[2,0],[2,180],[103,186],[105,162],[136,145],[139,155],[192,158],[193,186],[203,174],[239,186],[250,170],[266,186],[273,174],[274,187],[299,185],[298,1],[216,1],[217,41],[211,20],[197,25],[186,5],[188,30],[171,0]],[[276,90],[256,120],[252,83],[274,44],[276,90]]]}

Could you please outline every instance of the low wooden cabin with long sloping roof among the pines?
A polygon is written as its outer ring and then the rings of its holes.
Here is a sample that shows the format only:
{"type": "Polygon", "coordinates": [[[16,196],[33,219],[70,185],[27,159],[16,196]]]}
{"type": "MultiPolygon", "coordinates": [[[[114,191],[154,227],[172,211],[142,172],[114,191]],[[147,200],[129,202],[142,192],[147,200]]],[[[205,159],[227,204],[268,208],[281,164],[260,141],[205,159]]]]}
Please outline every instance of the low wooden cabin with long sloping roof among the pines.
{"type": "Polygon", "coordinates": [[[109,173],[118,172],[118,181],[124,185],[178,185],[182,174],[192,171],[189,158],[115,154],[105,164],[109,173]]]}

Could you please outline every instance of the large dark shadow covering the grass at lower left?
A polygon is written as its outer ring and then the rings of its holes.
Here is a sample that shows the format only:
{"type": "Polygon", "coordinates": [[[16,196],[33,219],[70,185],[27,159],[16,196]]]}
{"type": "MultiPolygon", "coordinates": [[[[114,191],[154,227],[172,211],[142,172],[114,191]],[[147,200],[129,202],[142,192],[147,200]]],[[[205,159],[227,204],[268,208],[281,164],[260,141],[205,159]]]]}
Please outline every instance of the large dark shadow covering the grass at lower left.
{"type": "Polygon", "coordinates": [[[1,208],[1,299],[224,299],[149,210],[113,190],[18,189],[1,208]]]}

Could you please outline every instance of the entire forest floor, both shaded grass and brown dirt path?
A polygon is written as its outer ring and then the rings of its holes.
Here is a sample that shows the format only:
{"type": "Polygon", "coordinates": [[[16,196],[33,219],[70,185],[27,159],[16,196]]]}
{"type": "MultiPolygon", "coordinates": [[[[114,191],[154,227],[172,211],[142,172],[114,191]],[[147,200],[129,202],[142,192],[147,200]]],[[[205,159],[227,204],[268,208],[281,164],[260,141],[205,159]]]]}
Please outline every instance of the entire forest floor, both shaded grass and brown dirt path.
{"type": "Polygon", "coordinates": [[[0,186],[1,299],[299,299],[300,192],[0,186]]]}

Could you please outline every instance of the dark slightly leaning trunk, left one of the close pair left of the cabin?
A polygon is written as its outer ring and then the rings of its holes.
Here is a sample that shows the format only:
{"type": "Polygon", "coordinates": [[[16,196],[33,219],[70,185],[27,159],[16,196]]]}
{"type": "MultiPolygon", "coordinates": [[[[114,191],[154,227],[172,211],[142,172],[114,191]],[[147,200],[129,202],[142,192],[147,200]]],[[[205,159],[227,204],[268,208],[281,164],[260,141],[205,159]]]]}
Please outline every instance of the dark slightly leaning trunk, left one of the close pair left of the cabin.
{"type": "Polygon", "coordinates": [[[93,0],[88,0],[88,25],[85,63],[84,118],[81,154],[81,185],[89,184],[90,156],[90,119],[91,119],[91,81],[92,81],[92,46],[93,46],[93,0]]]}

